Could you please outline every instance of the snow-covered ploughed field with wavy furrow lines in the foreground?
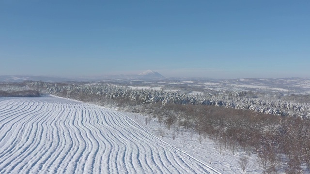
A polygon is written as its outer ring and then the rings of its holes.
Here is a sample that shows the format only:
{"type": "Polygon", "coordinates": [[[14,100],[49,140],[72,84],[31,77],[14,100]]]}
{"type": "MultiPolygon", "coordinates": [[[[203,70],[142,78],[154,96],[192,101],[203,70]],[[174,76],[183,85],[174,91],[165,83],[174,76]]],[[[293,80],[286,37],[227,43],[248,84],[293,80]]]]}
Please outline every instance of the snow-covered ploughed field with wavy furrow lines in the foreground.
{"type": "Polygon", "coordinates": [[[0,173],[219,172],[120,112],[48,96],[0,98],[0,173]]]}

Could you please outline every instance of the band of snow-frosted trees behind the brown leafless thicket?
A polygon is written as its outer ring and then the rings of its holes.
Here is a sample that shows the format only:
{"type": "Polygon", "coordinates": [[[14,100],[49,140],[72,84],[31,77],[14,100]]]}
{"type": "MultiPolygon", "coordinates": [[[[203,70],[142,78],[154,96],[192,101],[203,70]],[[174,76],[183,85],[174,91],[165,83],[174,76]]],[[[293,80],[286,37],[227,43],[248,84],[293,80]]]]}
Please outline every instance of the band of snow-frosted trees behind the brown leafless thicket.
{"type": "Polygon", "coordinates": [[[42,87],[50,94],[63,94],[71,97],[90,94],[108,99],[128,99],[141,103],[202,104],[225,108],[251,110],[263,114],[310,118],[310,103],[296,103],[283,100],[264,100],[253,97],[245,91],[227,91],[214,95],[189,95],[164,90],[131,89],[112,85],[70,85],[45,82],[31,82],[30,87],[42,87]],[[248,97],[249,96],[249,97],[248,97]]]}

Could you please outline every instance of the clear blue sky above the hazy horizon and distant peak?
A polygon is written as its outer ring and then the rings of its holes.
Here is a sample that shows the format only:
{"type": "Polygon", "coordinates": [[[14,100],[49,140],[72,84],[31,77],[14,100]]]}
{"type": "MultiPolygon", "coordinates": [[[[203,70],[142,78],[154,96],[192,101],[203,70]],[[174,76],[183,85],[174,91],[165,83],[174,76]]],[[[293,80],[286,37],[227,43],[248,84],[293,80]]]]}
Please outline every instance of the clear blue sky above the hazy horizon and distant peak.
{"type": "Polygon", "coordinates": [[[310,0],[0,0],[0,75],[310,77],[310,0]]]}

